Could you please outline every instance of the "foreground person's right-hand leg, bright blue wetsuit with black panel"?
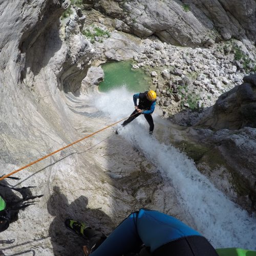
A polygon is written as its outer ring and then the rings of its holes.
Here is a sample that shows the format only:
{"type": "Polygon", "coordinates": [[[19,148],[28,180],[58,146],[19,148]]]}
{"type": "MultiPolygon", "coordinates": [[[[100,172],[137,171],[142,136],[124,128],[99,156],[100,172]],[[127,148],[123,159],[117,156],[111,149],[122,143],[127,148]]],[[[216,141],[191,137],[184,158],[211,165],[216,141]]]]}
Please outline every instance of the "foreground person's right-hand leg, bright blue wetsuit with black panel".
{"type": "Polygon", "coordinates": [[[198,231],[159,211],[140,209],[137,231],[153,255],[218,256],[198,231]]]}

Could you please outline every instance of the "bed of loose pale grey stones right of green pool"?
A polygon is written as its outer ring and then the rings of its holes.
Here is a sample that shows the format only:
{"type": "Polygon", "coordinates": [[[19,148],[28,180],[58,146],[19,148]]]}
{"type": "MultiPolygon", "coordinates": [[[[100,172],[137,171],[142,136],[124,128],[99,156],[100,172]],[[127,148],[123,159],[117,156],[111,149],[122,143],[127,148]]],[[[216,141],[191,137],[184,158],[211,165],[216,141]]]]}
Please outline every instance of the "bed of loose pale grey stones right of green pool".
{"type": "MultiPolygon", "coordinates": [[[[245,75],[242,63],[232,59],[230,49],[229,52],[225,52],[227,55],[224,55],[223,51],[214,50],[217,47],[212,42],[211,48],[208,49],[180,49],[157,40],[153,42],[148,39],[144,53],[139,57],[134,56],[134,60],[138,64],[133,68],[136,69],[145,65],[169,67],[169,70],[157,69],[159,74],[161,72],[159,79],[157,79],[156,71],[151,72],[152,82],[159,87],[156,89],[159,105],[164,108],[168,107],[168,110],[173,107],[177,108],[177,103],[169,99],[173,98],[176,102],[180,102],[183,101],[181,94],[189,93],[200,97],[200,101],[197,103],[198,108],[201,108],[202,104],[210,106],[223,91],[230,90],[235,84],[241,84],[245,75]],[[186,81],[187,77],[190,81],[186,81]],[[181,91],[179,89],[180,94],[177,90],[178,85],[184,87],[181,91]],[[209,95],[213,96],[209,99],[209,95]]],[[[188,102],[185,102],[184,105],[189,108],[188,102]]]]}

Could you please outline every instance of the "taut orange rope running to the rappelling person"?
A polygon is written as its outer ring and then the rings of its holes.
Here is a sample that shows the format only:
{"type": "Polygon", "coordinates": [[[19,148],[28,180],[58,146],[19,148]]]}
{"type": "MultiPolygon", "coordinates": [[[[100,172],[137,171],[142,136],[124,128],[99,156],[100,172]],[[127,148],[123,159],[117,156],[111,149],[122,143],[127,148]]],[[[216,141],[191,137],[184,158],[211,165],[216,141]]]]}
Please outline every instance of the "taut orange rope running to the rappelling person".
{"type": "MultiPolygon", "coordinates": [[[[136,114],[137,114],[137,113],[136,113],[136,114]]],[[[134,114],[134,115],[136,115],[136,114],[134,114]]],[[[132,115],[132,116],[134,116],[134,115],[132,115]]],[[[67,147],[69,147],[69,146],[72,146],[72,145],[74,145],[74,144],[76,144],[76,143],[78,143],[78,142],[80,142],[80,141],[82,141],[82,140],[84,140],[84,139],[87,139],[87,138],[93,136],[93,135],[96,134],[96,133],[102,132],[103,130],[105,130],[105,129],[107,129],[107,128],[109,128],[109,127],[111,127],[111,126],[113,126],[113,125],[115,125],[115,124],[117,124],[117,123],[123,121],[123,120],[126,119],[126,118],[128,118],[128,117],[125,117],[125,118],[123,118],[123,119],[121,119],[121,120],[119,120],[119,121],[117,121],[117,122],[115,122],[115,123],[112,123],[112,124],[110,124],[110,125],[104,127],[103,129],[101,129],[101,130],[95,132],[95,133],[89,134],[88,136],[83,137],[83,138],[81,138],[81,139],[79,139],[79,140],[77,140],[77,141],[75,141],[75,142],[73,142],[73,143],[71,143],[71,144],[69,144],[69,145],[67,145],[67,146],[63,146],[63,147],[59,148],[59,150],[56,150],[56,151],[54,151],[54,152],[52,152],[52,153],[50,153],[50,154],[48,154],[48,155],[46,155],[46,156],[44,156],[44,157],[41,157],[41,158],[39,158],[39,159],[37,159],[37,160],[35,160],[35,161],[29,163],[29,164],[27,164],[27,165],[25,165],[25,166],[23,166],[23,167],[17,169],[17,170],[14,170],[13,172],[11,172],[11,173],[9,173],[9,174],[7,174],[7,175],[1,177],[0,180],[4,180],[5,178],[8,178],[9,176],[11,176],[11,175],[13,175],[13,174],[19,172],[20,170],[23,170],[23,169],[25,169],[25,168],[27,168],[27,167],[29,167],[29,166],[35,164],[35,163],[38,163],[38,162],[40,162],[41,160],[44,160],[44,159],[46,159],[47,157],[50,157],[50,156],[52,156],[52,155],[58,153],[59,151],[65,150],[65,148],[67,148],[67,147]]]]}

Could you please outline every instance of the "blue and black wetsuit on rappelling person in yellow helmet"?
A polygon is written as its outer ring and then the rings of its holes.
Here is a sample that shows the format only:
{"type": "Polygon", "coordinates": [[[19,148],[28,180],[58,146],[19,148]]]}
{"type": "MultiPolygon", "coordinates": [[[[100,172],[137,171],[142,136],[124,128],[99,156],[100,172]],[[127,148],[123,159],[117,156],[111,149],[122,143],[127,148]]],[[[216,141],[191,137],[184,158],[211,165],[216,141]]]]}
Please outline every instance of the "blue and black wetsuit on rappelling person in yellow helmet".
{"type": "Polygon", "coordinates": [[[150,101],[150,100],[147,99],[146,95],[147,95],[147,92],[137,93],[137,94],[133,95],[134,105],[137,106],[137,99],[139,99],[138,108],[143,110],[143,112],[142,113],[138,113],[137,110],[135,110],[131,114],[131,116],[122,123],[122,126],[125,126],[126,124],[129,124],[136,117],[138,117],[141,114],[144,114],[145,119],[147,120],[148,124],[150,125],[150,132],[153,132],[153,130],[154,130],[154,121],[153,121],[153,118],[152,118],[151,114],[155,110],[156,100],[150,101]]]}

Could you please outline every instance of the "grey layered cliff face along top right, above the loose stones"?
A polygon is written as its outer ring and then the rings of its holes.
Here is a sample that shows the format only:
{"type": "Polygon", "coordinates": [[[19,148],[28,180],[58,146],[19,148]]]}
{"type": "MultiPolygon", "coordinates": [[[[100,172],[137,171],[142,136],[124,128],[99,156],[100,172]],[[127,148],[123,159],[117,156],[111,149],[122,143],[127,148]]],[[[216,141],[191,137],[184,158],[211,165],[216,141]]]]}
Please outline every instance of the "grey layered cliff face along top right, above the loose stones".
{"type": "Polygon", "coordinates": [[[255,40],[253,0],[245,1],[84,1],[116,18],[118,30],[140,37],[157,35],[181,46],[202,46],[220,39],[255,40]]]}

